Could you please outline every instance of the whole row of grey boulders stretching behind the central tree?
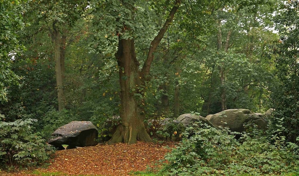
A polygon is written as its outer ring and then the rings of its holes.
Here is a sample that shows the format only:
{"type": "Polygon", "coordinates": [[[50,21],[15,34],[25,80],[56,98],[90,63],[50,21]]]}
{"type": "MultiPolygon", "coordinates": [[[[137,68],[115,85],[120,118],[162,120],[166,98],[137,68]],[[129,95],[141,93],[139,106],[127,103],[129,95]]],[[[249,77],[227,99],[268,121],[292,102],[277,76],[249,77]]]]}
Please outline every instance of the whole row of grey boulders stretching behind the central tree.
{"type": "MultiPolygon", "coordinates": [[[[168,133],[173,133],[174,130],[183,132],[184,129],[190,126],[194,122],[202,122],[202,124],[207,124],[211,127],[218,128],[219,126],[228,127],[231,131],[242,132],[244,131],[243,125],[246,122],[252,121],[260,129],[265,129],[267,122],[265,118],[271,115],[273,109],[268,110],[265,114],[252,113],[247,109],[230,109],[225,110],[220,113],[208,115],[206,118],[196,115],[196,114],[183,114],[177,119],[163,119],[160,123],[160,129],[162,131],[167,131],[168,133]],[[165,129],[170,127],[171,129],[165,129]],[[176,129],[174,129],[175,127],[176,129]],[[180,129],[179,129],[180,128],[180,129]]],[[[119,116],[118,116],[119,118],[119,116]]],[[[116,118],[116,119],[118,119],[116,118]]],[[[110,122],[111,120],[107,121],[110,122]]],[[[113,126],[110,123],[106,123],[110,126],[103,126],[102,128],[110,128],[113,126]]],[[[177,134],[177,131],[175,134],[177,134]]],[[[101,136],[108,136],[107,131],[101,136]],[[107,133],[107,134],[106,134],[107,133]]],[[[114,132],[108,131],[111,134],[114,132]]],[[[179,133],[178,133],[179,134],[179,133]]],[[[181,136],[170,136],[170,138],[165,138],[165,136],[155,136],[159,139],[170,139],[179,140],[181,136]]],[[[86,147],[97,145],[98,130],[97,128],[88,121],[73,121],[62,127],[58,128],[54,133],[52,133],[51,139],[48,141],[50,145],[54,145],[57,149],[64,149],[62,145],[68,145],[67,149],[76,147],[86,147]]],[[[109,138],[102,139],[105,142],[109,138]]]]}

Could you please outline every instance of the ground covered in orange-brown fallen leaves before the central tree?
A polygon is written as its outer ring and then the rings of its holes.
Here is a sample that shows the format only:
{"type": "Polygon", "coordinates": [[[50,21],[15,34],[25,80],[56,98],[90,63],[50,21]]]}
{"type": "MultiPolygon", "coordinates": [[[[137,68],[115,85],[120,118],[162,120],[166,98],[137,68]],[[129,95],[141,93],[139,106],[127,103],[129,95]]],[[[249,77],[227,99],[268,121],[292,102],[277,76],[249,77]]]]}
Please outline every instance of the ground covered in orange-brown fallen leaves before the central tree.
{"type": "MultiPolygon", "coordinates": [[[[67,175],[104,175],[126,176],[129,172],[144,171],[153,166],[170,151],[165,146],[174,147],[174,143],[162,144],[137,142],[133,145],[118,143],[114,145],[96,145],[56,151],[51,165],[43,172],[61,172],[67,175]]],[[[0,176],[36,176],[31,172],[4,173],[0,176]]]]}

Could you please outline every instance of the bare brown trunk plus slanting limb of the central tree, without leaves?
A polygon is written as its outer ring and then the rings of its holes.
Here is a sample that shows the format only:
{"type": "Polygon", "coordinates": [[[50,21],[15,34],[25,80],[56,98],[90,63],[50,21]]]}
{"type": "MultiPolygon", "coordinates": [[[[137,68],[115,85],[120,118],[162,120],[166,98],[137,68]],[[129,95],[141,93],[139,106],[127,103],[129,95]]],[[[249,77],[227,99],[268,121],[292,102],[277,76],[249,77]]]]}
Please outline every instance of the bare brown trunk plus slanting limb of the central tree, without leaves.
{"type": "MultiPolygon", "coordinates": [[[[180,0],[176,0],[170,14],[165,21],[163,27],[158,32],[158,35],[152,40],[149,47],[147,59],[142,68],[142,72],[139,71],[139,62],[135,54],[135,43],[133,39],[123,39],[119,34],[118,38],[118,51],[115,57],[118,61],[119,80],[120,80],[120,118],[121,123],[118,125],[112,138],[108,141],[108,144],[124,142],[127,144],[134,144],[137,140],[152,142],[149,134],[144,126],[144,92],[140,88],[144,88],[146,81],[149,79],[149,69],[153,60],[153,53],[155,52],[158,44],[163,38],[170,22],[173,20],[173,16],[180,5],[180,0]]],[[[134,5],[133,5],[134,6],[134,5]]],[[[134,9],[134,8],[132,8],[134,9]]],[[[131,10],[132,10],[131,9],[131,10]]],[[[133,17],[132,17],[133,21],[133,17]]],[[[123,27],[123,31],[130,30],[123,27]]]]}

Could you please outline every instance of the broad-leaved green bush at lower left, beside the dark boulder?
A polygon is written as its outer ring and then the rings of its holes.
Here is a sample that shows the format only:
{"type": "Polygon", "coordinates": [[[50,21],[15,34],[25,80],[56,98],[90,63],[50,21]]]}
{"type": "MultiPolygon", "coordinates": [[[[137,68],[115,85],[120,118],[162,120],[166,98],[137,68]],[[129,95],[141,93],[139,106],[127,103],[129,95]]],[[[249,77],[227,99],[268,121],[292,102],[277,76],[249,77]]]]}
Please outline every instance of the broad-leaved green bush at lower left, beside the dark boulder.
{"type": "Polygon", "coordinates": [[[50,158],[53,148],[34,133],[35,119],[3,122],[0,114],[0,168],[31,167],[50,158]]]}

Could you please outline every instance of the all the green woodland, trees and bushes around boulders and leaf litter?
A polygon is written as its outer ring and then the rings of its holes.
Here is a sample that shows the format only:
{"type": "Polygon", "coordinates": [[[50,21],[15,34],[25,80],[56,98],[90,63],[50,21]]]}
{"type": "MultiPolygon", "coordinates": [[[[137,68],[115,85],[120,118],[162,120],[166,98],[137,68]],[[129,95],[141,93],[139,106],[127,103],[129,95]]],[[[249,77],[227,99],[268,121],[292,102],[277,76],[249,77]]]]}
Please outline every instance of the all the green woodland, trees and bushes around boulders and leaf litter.
{"type": "Polygon", "coordinates": [[[134,145],[173,135],[153,119],[274,108],[240,140],[194,124],[149,175],[299,175],[298,0],[0,0],[0,24],[0,174],[74,120],[120,116],[108,144],[134,145]]]}

